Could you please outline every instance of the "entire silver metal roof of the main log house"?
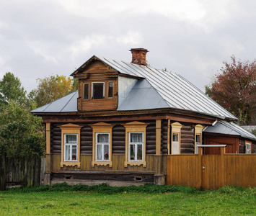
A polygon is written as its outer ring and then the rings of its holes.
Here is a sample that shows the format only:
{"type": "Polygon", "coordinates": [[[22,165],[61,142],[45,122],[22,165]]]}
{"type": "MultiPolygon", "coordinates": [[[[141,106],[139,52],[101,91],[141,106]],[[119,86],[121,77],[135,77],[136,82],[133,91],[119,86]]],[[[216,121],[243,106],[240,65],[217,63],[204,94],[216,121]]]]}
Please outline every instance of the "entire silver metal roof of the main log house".
{"type": "MultiPolygon", "coordinates": [[[[142,78],[138,79],[123,103],[118,104],[118,110],[174,108],[207,114],[221,119],[237,119],[177,73],[126,63],[123,60],[96,58],[114,68],[120,75],[125,74],[133,76],[133,78],[142,78]]],[[[32,112],[77,112],[77,97],[76,91],[55,102],[32,110],[32,112]]]]}

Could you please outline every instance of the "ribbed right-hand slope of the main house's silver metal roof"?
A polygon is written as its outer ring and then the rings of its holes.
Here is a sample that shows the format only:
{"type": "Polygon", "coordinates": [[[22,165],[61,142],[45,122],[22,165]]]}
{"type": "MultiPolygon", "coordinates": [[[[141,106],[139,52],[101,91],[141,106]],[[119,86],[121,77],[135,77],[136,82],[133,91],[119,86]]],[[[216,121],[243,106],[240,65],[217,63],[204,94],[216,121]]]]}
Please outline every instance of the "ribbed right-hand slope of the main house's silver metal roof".
{"type": "MultiPolygon", "coordinates": [[[[161,71],[149,66],[126,63],[123,60],[113,60],[104,57],[97,58],[120,73],[146,78],[149,84],[169,105],[169,108],[185,109],[220,118],[228,117],[237,120],[237,117],[234,117],[233,114],[226,111],[226,109],[206,96],[203,91],[200,91],[200,89],[177,73],[161,71]]],[[[149,99],[149,103],[151,101],[152,99],[149,99]]],[[[123,107],[122,104],[120,107],[123,107]]],[[[120,110],[120,107],[118,107],[118,110],[120,110]]],[[[130,108],[130,110],[133,110],[131,106],[130,108]]]]}

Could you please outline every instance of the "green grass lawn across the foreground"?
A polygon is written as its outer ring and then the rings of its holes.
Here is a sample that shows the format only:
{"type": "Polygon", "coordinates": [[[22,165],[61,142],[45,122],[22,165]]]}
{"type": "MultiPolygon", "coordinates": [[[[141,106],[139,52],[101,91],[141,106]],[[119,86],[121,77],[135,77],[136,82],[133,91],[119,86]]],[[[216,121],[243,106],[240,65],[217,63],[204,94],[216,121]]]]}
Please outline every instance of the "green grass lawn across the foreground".
{"type": "Polygon", "coordinates": [[[199,192],[154,185],[11,189],[0,192],[0,215],[256,215],[256,189],[199,192]]]}

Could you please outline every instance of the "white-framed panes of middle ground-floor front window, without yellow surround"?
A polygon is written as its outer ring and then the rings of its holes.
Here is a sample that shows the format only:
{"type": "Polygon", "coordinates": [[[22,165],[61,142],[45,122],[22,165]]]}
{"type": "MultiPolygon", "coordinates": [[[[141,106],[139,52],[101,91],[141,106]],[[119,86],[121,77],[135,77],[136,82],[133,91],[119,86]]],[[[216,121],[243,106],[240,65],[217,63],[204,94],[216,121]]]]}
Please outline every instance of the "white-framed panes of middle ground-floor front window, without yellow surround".
{"type": "Polygon", "coordinates": [[[109,161],[110,133],[96,133],[96,161],[109,161]]]}

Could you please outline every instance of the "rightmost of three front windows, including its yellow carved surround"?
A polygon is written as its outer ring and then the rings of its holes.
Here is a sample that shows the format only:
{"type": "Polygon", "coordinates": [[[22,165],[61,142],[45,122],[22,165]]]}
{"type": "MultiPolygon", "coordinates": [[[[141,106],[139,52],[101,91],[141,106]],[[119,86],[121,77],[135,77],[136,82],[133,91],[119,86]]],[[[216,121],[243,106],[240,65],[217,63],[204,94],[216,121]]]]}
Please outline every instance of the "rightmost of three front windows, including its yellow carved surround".
{"type": "Polygon", "coordinates": [[[129,122],[125,127],[125,167],[146,167],[146,126],[144,122],[129,122]]]}

